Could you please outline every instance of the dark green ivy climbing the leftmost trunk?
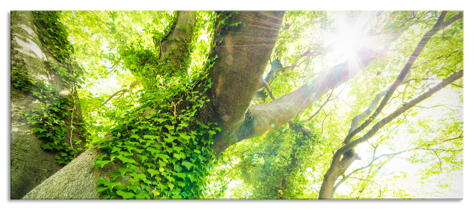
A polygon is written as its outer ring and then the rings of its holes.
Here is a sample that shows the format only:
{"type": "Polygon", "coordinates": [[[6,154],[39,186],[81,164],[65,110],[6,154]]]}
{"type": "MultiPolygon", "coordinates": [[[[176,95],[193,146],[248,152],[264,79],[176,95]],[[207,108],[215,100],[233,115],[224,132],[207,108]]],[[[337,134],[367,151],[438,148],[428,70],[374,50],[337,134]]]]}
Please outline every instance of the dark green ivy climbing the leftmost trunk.
{"type": "Polygon", "coordinates": [[[55,159],[59,164],[67,164],[87,149],[87,143],[83,139],[87,139],[88,132],[84,129],[81,116],[76,112],[76,108],[79,108],[76,89],[83,83],[84,70],[71,57],[74,49],[67,39],[64,25],[58,22],[59,12],[35,11],[33,14],[41,41],[59,61],[58,65],[48,61],[46,63],[60,76],[62,87],[70,93],[62,95],[55,86],[35,81],[33,76],[17,67],[11,67],[14,74],[12,84],[38,99],[37,109],[19,112],[31,124],[36,125],[32,132],[45,141],[41,147],[58,153],[55,159]],[[75,135],[78,137],[75,138],[75,135]]]}

